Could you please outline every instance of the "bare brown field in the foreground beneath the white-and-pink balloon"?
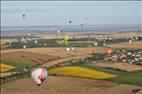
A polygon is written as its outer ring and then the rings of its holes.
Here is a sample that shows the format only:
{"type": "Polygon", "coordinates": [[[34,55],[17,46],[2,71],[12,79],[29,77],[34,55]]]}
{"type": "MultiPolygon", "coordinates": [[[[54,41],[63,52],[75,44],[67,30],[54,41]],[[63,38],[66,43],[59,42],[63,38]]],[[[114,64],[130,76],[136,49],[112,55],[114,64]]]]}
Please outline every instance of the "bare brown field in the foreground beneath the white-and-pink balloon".
{"type": "Polygon", "coordinates": [[[31,78],[11,82],[2,87],[2,94],[133,94],[142,87],[116,84],[102,80],[48,76],[41,87],[31,78]]]}

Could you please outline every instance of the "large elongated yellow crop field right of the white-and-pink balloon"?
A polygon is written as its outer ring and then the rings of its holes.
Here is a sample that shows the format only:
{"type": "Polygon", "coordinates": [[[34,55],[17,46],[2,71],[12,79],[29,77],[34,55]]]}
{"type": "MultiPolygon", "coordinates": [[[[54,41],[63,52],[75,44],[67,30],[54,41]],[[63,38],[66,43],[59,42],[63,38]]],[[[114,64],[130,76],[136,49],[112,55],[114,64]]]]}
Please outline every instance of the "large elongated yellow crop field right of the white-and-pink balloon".
{"type": "Polygon", "coordinates": [[[86,77],[94,79],[107,79],[117,76],[117,75],[112,75],[110,73],[105,73],[77,66],[68,66],[68,67],[59,67],[55,69],[50,69],[49,74],[78,76],[78,77],[86,77]]]}

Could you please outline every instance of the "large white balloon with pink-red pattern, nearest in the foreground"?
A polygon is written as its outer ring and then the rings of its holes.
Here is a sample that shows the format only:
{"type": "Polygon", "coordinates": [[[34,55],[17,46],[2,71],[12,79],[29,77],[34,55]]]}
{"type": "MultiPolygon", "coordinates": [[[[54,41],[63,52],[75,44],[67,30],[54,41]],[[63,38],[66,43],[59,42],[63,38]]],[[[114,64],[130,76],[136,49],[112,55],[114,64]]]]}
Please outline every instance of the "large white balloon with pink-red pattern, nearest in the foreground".
{"type": "Polygon", "coordinates": [[[40,86],[47,78],[48,71],[46,68],[36,68],[32,71],[31,77],[33,81],[40,86]]]}

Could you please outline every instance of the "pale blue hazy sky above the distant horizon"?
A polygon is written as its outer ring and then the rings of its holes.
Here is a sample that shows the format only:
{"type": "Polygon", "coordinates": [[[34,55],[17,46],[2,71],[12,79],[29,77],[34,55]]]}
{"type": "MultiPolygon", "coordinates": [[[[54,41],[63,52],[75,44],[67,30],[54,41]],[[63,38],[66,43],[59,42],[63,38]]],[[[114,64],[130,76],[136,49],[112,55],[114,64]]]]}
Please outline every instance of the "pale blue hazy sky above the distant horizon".
{"type": "Polygon", "coordinates": [[[1,1],[1,26],[142,25],[141,18],[142,1],[1,1]]]}

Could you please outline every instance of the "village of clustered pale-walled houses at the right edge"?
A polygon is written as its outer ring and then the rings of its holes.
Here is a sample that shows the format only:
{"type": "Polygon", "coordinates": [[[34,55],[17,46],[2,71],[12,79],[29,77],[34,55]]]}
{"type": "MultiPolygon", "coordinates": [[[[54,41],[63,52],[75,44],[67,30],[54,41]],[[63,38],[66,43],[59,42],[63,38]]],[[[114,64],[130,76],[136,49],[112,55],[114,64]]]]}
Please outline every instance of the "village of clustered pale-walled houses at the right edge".
{"type": "Polygon", "coordinates": [[[142,65],[142,50],[139,51],[128,51],[128,50],[117,50],[112,56],[106,57],[106,61],[121,62],[142,65]]]}

